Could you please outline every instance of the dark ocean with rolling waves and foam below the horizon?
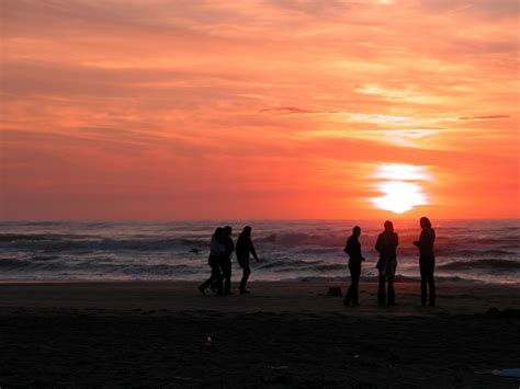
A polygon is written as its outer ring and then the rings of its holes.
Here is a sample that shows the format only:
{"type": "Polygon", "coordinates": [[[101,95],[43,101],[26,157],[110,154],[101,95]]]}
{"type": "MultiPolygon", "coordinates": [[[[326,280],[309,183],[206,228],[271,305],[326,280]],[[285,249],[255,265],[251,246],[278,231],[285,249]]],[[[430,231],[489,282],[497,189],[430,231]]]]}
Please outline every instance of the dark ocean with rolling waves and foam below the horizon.
{"type": "MultiPolygon", "coordinates": [[[[0,281],[203,281],[210,239],[218,226],[244,226],[261,262],[251,281],[348,279],[343,253],[361,226],[366,261],[362,279],[375,278],[374,244],[384,220],[2,221],[0,281]],[[193,250],[196,249],[196,250],[193,250]]],[[[520,284],[520,220],[432,220],[438,279],[520,284]]],[[[418,220],[394,220],[399,234],[397,279],[419,279],[418,220]]],[[[241,271],[234,261],[233,279],[241,271]]]]}

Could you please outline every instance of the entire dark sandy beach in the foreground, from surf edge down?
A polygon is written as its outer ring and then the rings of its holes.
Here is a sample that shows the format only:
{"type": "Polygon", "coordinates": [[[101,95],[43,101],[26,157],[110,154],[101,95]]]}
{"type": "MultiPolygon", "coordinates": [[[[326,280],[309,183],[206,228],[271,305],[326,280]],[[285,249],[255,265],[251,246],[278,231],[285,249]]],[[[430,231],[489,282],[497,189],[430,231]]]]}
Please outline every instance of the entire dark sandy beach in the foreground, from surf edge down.
{"type": "Polygon", "coordinates": [[[520,367],[520,288],[396,283],[378,307],[327,297],[340,282],[249,284],[201,296],[196,283],[0,284],[0,387],[483,387],[520,367]],[[496,309],[495,309],[496,308],[496,309]],[[208,342],[211,336],[211,342],[208,342]]]}

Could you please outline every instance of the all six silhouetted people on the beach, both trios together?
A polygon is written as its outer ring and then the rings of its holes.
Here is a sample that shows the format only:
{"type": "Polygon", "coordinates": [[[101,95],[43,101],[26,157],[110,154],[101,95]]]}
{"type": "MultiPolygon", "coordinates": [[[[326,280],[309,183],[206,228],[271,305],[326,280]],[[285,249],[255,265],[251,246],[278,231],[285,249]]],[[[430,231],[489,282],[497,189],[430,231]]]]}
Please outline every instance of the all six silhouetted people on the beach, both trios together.
{"type": "MultiPolygon", "coordinates": [[[[431,228],[431,222],[427,217],[420,218],[420,227],[422,229],[419,240],[414,244],[419,248],[419,267],[421,276],[421,302],[426,306],[436,305],[436,284],[433,281],[433,268],[436,259],[433,254],[433,243],[436,241],[436,231],[431,228]],[[428,296],[429,289],[429,296],[428,296]]],[[[380,253],[380,259],[375,267],[380,272],[380,281],[377,288],[377,301],[380,305],[394,305],[395,290],[394,279],[397,268],[397,247],[399,245],[399,237],[394,231],[394,225],[387,220],[384,224],[384,231],[381,232],[375,242],[375,250],[380,253]]],[[[212,274],[203,284],[199,286],[199,290],[205,295],[207,287],[218,296],[231,295],[231,255],[235,252],[237,262],[242,268],[242,278],[238,289],[240,294],[249,294],[246,284],[251,274],[249,266],[249,258],[252,254],[257,262],[259,261],[257,252],[251,241],[251,227],[244,227],[242,232],[238,236],[237,244],[231,238],[233,228],[226,226],[218,227],[213,233],[211,241],[211,251],[208,264],[212,274]]],[[[351,285],[344,297],[344,305],[359,305],[359,282],[361,274],[361,263],[364,261],[361,254],[361,244],[359,241],[361,228],[355,226],[352,236],[347,240],[343,251],[349,255],[349,270],[351,275],[351,285]]]]}

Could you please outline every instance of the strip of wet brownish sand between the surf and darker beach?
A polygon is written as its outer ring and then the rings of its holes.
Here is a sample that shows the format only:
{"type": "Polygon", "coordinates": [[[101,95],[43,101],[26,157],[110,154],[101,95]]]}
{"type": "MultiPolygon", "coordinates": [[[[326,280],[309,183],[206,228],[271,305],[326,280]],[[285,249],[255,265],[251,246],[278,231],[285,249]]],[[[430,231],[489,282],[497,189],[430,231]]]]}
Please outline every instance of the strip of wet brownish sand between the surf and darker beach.
{"type": "Polygon", "coordinates": [[[239,295],[238,283],[231,284],[233,296],[217,297],[211,290],[202,296],[199,282],[29,282],[0,283],[0,312],[5,308],[128,308],[167,309],[170,311],[225,312],[334,312],[351,309],[357,314],[475,314],[487,309],[520,309],[520,288],[511,285],[472,282],[438,282],[437,306],[420,305],[420,283],[396,282],[396,305],[378,307],[377,283],[361,282],[360,306],[343,307],[343,297],[327,296],[329,287],[340,287],[342,296],[350,282],[250,282],[251,295],[239,295]]]}

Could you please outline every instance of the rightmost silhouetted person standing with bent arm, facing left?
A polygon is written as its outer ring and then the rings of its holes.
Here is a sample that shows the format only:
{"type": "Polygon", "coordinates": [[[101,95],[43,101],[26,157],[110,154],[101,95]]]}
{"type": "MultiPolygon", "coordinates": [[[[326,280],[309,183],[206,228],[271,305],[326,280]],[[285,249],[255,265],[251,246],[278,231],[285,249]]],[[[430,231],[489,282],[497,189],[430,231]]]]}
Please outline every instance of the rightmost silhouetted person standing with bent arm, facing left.
{"type": "Polygon", "coordinates": [[[419,248],[419,267],[420,267],[420,299],[423,306],[428,300],[427,284],[430,287],[429,306],[436,305],[436,283],[433,281],[433,270],[436,267],[436,256],[433,255],[433,243],[436,241],[436,231],[431,228],[430,219],[420,218],[420,237],[414,244],[419,248]]]}

